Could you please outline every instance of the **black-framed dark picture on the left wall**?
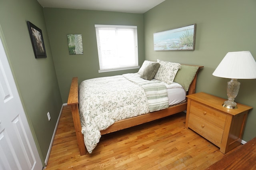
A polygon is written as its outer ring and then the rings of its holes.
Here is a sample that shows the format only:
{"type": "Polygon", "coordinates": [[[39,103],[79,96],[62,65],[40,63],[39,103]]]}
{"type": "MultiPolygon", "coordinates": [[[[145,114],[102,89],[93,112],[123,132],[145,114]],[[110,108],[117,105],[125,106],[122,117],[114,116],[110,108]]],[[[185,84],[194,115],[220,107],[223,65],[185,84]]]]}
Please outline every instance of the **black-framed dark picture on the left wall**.
{"type": "Polygon", "coordinates": [[[34,54],[36,58],[46,58],[46,51],[44,47],[44,39],[42,30],[32,24],[31,22],[27,21],[28,23],[28,30],[30,33],[30,38],[34,50],[34,54]]]}

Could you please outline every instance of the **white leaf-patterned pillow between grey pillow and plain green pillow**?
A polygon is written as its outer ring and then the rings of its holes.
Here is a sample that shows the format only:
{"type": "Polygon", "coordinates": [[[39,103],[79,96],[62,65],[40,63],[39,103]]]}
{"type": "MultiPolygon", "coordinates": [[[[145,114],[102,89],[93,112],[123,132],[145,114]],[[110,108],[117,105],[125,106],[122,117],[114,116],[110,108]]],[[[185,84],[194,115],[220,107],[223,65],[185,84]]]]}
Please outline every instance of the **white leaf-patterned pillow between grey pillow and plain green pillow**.
{"type": "Polygon", "coordinates": [[[159,59],[157,59],[157,62],[160,63],[160,68],[156,72],[154,79],[164,81],[168,85],[172,84],[176,73],[180,69],[180,64],[159,59]]]}

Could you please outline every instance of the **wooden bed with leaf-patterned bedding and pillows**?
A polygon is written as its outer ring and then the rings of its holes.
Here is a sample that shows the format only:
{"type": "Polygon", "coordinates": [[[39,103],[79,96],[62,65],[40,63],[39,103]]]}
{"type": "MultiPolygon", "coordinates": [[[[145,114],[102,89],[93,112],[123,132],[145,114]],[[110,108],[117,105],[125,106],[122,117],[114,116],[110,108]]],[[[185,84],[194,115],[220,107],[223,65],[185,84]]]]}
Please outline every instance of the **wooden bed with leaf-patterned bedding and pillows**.
{"type": "Polygon", "coordinates": [[[195,93],[202,67],[145,60],[138,73],[89,79],[80,86],[73,77],[67,104],[80,155],[92,153],[103,134],[185,111],[186,95],[195,93]],[[174,90],[183,98],[170,97],[174,90]]]}

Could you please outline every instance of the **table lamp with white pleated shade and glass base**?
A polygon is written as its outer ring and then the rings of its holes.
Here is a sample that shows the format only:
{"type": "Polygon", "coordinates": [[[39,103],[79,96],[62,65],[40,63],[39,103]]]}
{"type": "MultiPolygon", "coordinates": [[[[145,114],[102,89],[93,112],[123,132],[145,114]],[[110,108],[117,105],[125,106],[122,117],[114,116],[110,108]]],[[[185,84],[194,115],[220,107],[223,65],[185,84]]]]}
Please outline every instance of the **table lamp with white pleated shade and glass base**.
{"type": "Polygon", "coordinates": [[[231,79],[227,84],[228,100],[222,106],[236,109],[234,99],[240,87],[237,79],[256,79],[256,62],[250,51],[228,52],[212,75],[231,79]]]}

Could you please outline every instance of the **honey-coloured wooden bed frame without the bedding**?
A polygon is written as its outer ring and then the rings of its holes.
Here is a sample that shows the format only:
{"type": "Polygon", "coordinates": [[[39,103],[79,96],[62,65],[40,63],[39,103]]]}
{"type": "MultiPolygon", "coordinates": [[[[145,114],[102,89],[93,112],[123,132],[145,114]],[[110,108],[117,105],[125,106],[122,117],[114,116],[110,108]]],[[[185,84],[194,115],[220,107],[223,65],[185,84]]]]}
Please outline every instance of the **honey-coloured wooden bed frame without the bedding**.
{"type": "MultiPolygon", "coordinates": [[[[196,65],[193,65],[193,66],[196,66],[196,65]]],[[[199,67],[199,69],[198,69],[198,71],[199,71],[200,68],[202,68],[204,66],[198,66],[198,67],[199,67]]],[[[196,75],[195,75],[192,83],[190,84],[190,87],[187,91],[187,95],[194,94],[196,91],[196,78],[197,78],[198,71],[196,72],[196,75]]],[[[86,148],[85,148],[85,144],[84,144],[84,136],[81,132],[82,127],[81,127],[80,116],[79,116],[79,111],[78,111],[78,77],[72,78],[67,104],[70,105],[70,107],[71,107],[72,117],[73,117],[73,121],[74,121],[74,127],[76,130],[76,138],[77,138],[77,142],[78,142],[78,147],[79,147],[80,155],[82,156],[82,155],[86,154],[86,148]]],[[[147,113],[145,115],[140,115],[137,117],[120,120],[120,121],[115,122],[113,125],[111,125],[107,129],[101,130],[100,134],[103,135],[103,134],[115,132],[118,130],[122,130],[125,128],[133,127],[136,125],[140,125],[143,123],[147,123],[150,121],[154,121],[154,120],[157,120],[157,119],[160,119],[163,117],[173,115],[175,113],[180,113],[182,111],[185,111],[186,109],[187,109],[187,102],[179,104],[179,105],[174,105],[174,106],[168,107],[167,109],[163,109],[160,111],[155,111],[152,113],[147,113]]]]}

